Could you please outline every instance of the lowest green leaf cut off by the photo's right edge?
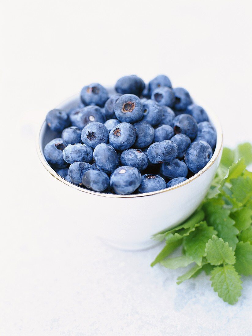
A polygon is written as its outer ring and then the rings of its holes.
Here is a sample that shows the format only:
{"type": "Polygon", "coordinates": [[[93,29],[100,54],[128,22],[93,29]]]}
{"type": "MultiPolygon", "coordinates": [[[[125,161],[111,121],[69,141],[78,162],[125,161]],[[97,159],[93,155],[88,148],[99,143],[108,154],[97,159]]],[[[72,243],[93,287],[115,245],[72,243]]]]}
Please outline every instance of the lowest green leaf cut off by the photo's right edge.
{"type": "Polygon", "coordinates": [[[252,245],[249,242],[237,244],[235,267],[239,274],[252,275],[252,245]]]}

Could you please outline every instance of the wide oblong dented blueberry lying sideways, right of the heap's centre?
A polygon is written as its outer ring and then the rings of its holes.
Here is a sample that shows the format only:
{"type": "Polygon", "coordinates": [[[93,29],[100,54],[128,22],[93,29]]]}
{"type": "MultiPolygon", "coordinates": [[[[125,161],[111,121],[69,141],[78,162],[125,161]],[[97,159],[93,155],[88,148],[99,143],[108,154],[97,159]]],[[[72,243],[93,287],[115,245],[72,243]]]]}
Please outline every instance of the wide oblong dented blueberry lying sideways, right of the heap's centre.
{"type": "Polygon", "coordinates": [[[152,143],[147,150],[147,156],[152,163],[168,162],[178,155],[178,146],[171,140],[152,143]]]}

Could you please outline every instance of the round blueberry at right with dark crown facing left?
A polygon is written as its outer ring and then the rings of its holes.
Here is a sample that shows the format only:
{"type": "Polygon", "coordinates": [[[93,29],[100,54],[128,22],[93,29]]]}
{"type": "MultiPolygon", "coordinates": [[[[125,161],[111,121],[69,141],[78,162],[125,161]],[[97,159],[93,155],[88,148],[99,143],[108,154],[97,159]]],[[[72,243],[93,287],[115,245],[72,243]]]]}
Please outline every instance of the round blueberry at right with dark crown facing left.
{"type": "Polygon", "coordinates": [[[195,138],[198,131],[196,120],[189,114],[180,114],[173,120],[174,132],[187,135],[191,140],[195,138]]]}

